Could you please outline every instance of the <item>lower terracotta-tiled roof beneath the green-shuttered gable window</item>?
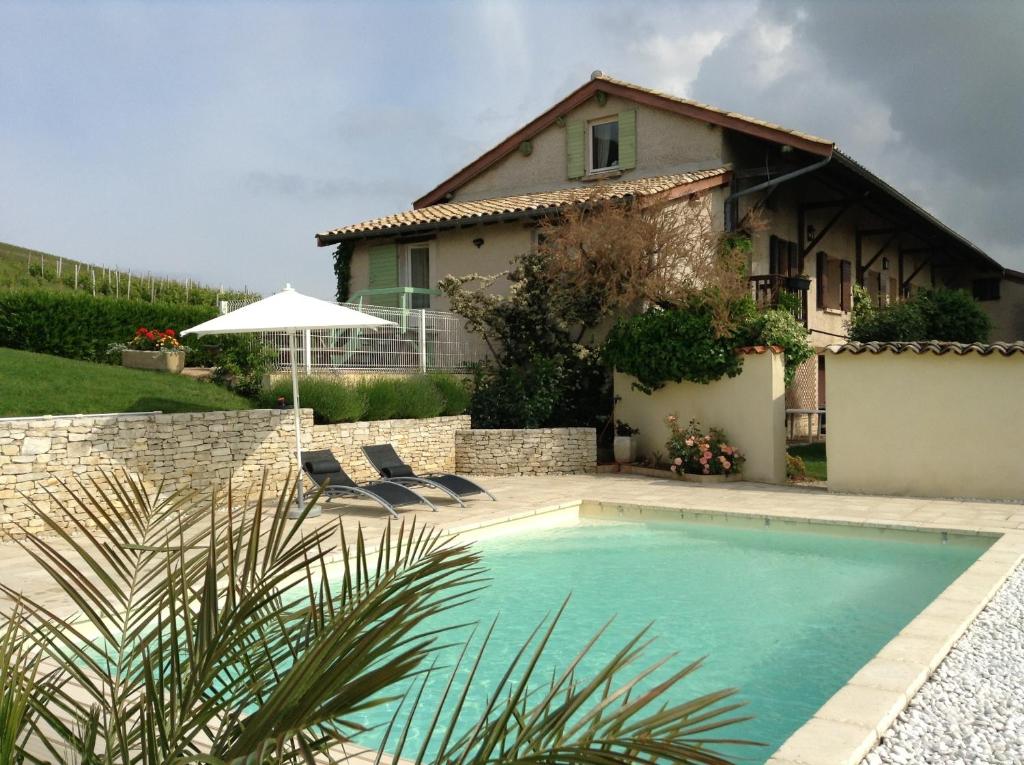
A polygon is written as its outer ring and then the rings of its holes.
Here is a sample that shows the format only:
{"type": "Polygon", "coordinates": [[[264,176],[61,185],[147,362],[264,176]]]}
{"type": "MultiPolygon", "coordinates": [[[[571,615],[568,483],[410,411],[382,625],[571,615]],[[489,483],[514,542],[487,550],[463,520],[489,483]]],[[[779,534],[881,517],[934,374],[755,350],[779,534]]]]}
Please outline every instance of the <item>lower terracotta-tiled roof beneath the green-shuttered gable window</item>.
{"type": "Polygon", "coordinates": [[[558,188],[551,192],[522,194],[515,197],[498,197],[468,202],[445,202],[439,205],[421,207],[418,210],[406,210],[393,215],[384,215],[380,218],[364,220],[361,223],[352,223],[341,228],[334,228],[330,231],[317,233],[316,240],[321,245],[331,244],[332,242],[350,239],[354,236],[382,233],[412,225],[439,224],[459,220],[473,220],[474,218],[489,218],[496,215],[550,210],[586,202],[594,198],[625,199],[627,197],[649,197],[663,192],[670,192],[679,186],[686,186],[697,181],[723,176],[727,172],[726,168],[720,167],[714,170],[656,175],[649,178],[613,181],[573,188],[558,188]]]}

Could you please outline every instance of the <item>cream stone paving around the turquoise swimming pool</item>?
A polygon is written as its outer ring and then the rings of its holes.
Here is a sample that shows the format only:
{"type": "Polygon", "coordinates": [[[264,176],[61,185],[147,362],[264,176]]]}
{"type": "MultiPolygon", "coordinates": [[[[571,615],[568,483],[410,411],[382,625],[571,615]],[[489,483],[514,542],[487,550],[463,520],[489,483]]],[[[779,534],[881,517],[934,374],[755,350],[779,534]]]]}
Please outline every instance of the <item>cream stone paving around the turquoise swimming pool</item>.
{"type": "MultiPolygon", "coordinates": [[[[707,514],[796,524],[881,527],[991,537],[989,549],[868,662],[768,761],[769,765],[855,765],[889,728],[909,698],[1024,557],[1024,505],[859,495],[818,488],[735,482],[700,485],[640,475],[593,474],[480,477],[498,498],[470,499],[465,508],[437,502],[438,512],[404,509],[446,532],[468,538],[498,524],[529,526],[548,513],[627,513],[630,517],[699,518],[707,514]],[[588,509],[589,508],[589,509],[588,509]],[[594,509],[596,508],[596,510],[594,509]],[[667,511],[675,511],[668,513],[667,511]]],[[[433,495],[431,499],[433,499],[433,495]]],[[[267,514],[271,512],[266,510],[267,514]]],[[[354,539],[361,526],[374,540],[388,516],[367,503],[328,504],[309,527],[341,524],[354,539]]],[[[59,613],[71,612],[62,593],[17,546],[0,544],[0,581],[59,613]]]]}

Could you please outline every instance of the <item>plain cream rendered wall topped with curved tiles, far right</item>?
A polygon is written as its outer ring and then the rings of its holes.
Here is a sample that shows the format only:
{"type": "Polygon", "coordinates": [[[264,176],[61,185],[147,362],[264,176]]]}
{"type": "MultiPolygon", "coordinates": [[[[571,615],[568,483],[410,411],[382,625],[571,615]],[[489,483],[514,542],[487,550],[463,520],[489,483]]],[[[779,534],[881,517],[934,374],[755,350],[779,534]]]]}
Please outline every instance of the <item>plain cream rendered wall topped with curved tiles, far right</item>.
{"type": "Polygon", "coordinates": [[[1024,499],[1024,343],[828,354],[828,488],[1024,499]]]}

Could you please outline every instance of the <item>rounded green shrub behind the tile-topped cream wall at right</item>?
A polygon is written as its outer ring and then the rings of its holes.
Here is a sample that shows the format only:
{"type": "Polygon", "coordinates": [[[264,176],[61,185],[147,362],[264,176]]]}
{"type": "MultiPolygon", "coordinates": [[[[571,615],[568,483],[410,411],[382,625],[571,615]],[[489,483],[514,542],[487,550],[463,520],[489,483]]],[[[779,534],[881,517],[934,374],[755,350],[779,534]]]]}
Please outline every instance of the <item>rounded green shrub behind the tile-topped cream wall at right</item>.
{"type": "Polygon", "coordinates": [[[847,330],[859,342],[946,340],[988,341],[992,325],[978,302],[964,290],[924,290],[907,300],[879,307],[867,292],[854,288],[847,330]]]}

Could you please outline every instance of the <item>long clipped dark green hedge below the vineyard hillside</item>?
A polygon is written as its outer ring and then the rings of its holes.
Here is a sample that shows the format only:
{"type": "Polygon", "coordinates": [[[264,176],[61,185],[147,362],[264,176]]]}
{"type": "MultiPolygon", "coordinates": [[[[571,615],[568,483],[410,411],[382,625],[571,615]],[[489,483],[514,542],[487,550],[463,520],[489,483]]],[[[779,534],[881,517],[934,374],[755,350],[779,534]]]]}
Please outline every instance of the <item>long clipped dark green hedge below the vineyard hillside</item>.
{"type": "MultiPolygon", "coordinates": [[[[144,303],[51,290],[0,291],[0,346],[65,358],[110,362],[112,343],[139,327],[181,330],[217,315],[213,306],[144,303]]],[[[210,364],[209,339],[190,341],[189,364],[210,364]]],[[[188,338],[185,339],[188,344],[188,338]]]]}

